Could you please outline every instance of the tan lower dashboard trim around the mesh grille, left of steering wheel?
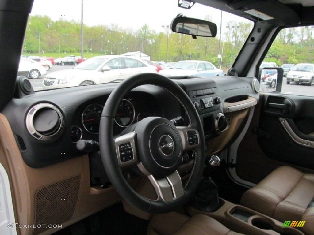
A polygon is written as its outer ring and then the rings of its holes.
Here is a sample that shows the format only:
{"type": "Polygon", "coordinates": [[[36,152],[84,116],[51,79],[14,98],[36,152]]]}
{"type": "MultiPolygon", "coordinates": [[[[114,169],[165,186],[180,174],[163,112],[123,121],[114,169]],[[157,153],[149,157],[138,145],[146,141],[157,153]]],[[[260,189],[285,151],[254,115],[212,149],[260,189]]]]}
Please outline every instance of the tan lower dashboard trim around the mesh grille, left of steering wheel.
{"type": "MultiPolygon", "coordinates": [[[[81,176],[78,200],[74,202],[76,206],[71,219],[64,222],[63,227],[121,201],[113,187],[95,190],[90,187],[89,156],[86,154],[43,168],[31,168],[26,165],[14,133],[2,113],[0,113],[0,162],[8,172],[15,222],[19,224],[35,225],[36,192],[78,175],[81,176]]],[[[138,183],[138,180],[134,180],[131,185],[136,186],[138,183]]],[[[60,195],[60,200],[63,198],[66,200],[66,195],[60,195]]],[[[59,229],[52,228],[42,234],[51,234],[57,230],[59,229]]],[[[19,235],[31,235],[34,228],[19,228],[17,232],[19,235]]]]}

